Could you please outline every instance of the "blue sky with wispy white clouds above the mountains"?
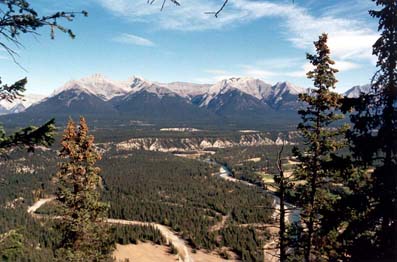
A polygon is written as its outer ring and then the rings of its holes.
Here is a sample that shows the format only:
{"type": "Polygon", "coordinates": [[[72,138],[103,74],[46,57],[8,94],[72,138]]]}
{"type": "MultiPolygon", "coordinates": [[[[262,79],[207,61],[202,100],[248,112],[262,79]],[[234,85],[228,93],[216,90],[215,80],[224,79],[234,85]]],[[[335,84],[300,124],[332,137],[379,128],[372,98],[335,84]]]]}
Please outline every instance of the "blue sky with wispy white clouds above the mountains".
{"type": "Polygon", "coordinates": [[[376,58],[371,46],[377,24],[370,0],[230,0],[219,18],[205,14],[222,0],[180,0],[161,12],[147,0],[34,0],[43,14],[86,10],[88,17],[64,22],[74,40],[49,30],[22,36],[14,64],[0,51],[4,82],[27,76],[28,92],[49,94],[71,79],[102,73],[124,80],[213,83],[232,76],[290,81],[308,87],[306,52],[322,32],[340,69],[338,91],[369,83],[376,58]]]}

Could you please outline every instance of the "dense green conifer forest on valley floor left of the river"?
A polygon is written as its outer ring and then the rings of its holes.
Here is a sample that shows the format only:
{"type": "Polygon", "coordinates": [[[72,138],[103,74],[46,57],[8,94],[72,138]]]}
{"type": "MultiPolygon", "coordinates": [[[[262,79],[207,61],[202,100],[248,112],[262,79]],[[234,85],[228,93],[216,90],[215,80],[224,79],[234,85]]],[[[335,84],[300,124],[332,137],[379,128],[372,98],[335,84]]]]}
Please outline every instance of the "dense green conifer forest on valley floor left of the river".
{"type": "MultiPolygon", "coordinates": [[[[2,206],[8,203],[10,207],[3,209],[2,232],[16,225],[27,230],[26,225],[32,221],[26,214],[27,206],[56,190],[54,151],[38,150],[30,156],[15,151],[9,157],[3,164],[1,202],[2,206]],[[16,171],[19,174],[12,175],[16,171]]],[[[193,249],[221,251],[226,246],[244,261],[257,261],[263,256],[261,250],[268,233],[256,227],[271,223],[273,211],[271,199],[259,189],[225,182],[213,175],[217,168],[208,163],[171,154],[110,149],[99,166],[105,188],[103,201],[110,204],[110,218],[169,226],[193,249]],[[227,217],[226,224],[211,230],[223,217],[227,217]]],[[[51,203],[38,212],[54,214],[56,207],[51,203]]],[[[45,228],[51,228],[50,225],[41,227],[35,223],[37,228],[29,228],[34,234],[23,235],[29,238],[31,245],[40,243],[52,254],[59,235],[53,231],[53,235],[46,233],[45,228]],[[46,239],[46,243],[42,243],[42,239],[46,239]]],[[[117,228],[112,239],[121,244],[137,240],[163,242],[150,228],[139,231],[128,226],[117,228]]]]}

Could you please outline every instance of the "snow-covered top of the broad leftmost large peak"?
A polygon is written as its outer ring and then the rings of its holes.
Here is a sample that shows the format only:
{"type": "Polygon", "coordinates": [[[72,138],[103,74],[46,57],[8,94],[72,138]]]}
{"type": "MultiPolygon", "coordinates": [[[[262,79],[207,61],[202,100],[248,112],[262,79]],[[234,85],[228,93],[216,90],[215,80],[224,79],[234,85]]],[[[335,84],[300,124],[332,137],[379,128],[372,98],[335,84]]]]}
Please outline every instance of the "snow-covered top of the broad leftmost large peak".
{"type": "Polygon", "coordinates": [[[55,90],[51,96],[58,95],[68,90],[87,92],[107,101],[113,97],[127,94],[130,88],[126,82],[113,81],[101,74],[94,74],[80,80],[71,80],[67,82],[64,86],[55,90]]]}

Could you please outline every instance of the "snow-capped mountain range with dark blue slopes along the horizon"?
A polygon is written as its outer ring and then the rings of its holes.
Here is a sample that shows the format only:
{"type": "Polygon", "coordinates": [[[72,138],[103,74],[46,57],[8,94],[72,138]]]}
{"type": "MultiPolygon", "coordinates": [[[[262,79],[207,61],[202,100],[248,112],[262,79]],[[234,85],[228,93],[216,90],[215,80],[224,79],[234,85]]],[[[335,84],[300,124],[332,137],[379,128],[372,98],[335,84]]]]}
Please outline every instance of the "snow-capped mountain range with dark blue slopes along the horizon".
{"type": "MultiPolygon", "coordinates": [[[[366,87],[345,95],[357,96],[366,87]]],[[[100,74],[72,80],[50,96],[25,98],[13,106],[0,104],[0,114],[12,120],[65,119],[85,115],[97,121],[143,121],[151,124],[228,125],[255,127],[294,125],[307,92],[289,82],[275,85],[254,78],[229,78],[215,84],[158,83],[140,77],[114,81],[100,74]],[[27,103],[26,101],[29,101],[27,103]]],[[[4,122],[4,117],[0,119],[4,122]]]]}

